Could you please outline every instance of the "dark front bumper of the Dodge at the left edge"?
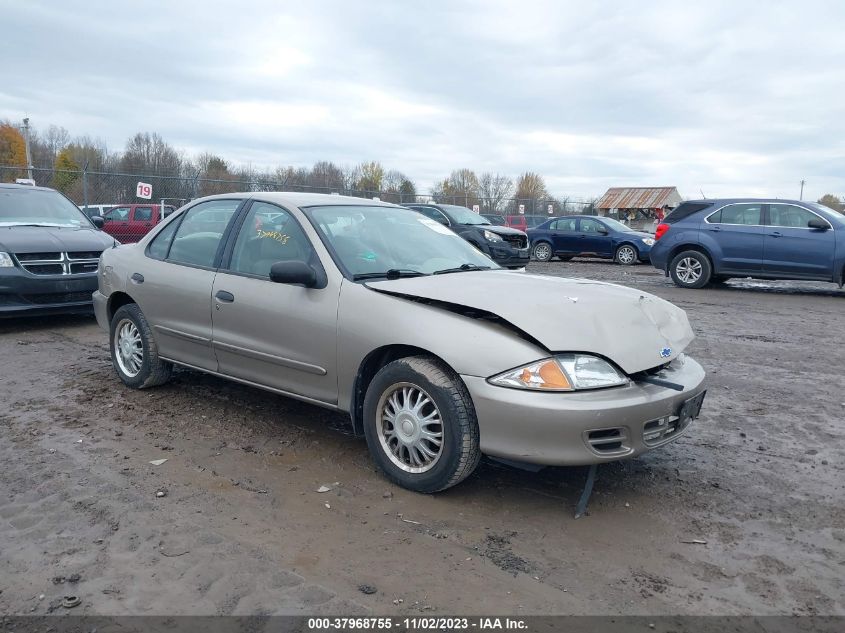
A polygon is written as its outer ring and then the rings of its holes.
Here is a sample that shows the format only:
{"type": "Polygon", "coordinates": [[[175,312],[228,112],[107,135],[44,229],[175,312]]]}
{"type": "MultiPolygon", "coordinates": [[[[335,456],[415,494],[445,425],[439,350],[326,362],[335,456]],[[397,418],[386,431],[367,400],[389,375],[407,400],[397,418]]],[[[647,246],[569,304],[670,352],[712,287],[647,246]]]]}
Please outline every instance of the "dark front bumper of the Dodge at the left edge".
{"type": "Polygon", "coordinates": [[[0,317],[90,312],[97,274],[31,275],[0,268],[0,317]]]}

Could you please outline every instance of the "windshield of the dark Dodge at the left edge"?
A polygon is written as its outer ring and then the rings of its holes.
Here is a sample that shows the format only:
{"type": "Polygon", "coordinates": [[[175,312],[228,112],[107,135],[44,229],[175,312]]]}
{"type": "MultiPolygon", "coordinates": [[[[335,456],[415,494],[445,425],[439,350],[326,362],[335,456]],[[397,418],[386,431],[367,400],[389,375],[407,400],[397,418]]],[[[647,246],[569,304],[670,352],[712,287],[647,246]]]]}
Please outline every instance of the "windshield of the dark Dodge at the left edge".
{"type": "Polygon", "coordinates": [[[91,222],[58,191],[0,188],[0,226],[90,228],[91,222]]]}

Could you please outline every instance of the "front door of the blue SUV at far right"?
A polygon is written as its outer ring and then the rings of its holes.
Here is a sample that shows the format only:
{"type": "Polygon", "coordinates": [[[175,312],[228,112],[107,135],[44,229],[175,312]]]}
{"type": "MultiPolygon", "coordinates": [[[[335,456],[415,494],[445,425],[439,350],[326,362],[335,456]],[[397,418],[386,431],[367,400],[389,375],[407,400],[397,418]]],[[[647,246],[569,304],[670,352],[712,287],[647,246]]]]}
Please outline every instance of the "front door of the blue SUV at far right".
{"type": "Polygon", "coordinates": [[[766,205],[763,238],[763,272],[771,275],[833,278],[835,233],[824,218],[794,204],[766,205]],[[826,230],[810,228],[810,220],[821,220],[826,230]]]}

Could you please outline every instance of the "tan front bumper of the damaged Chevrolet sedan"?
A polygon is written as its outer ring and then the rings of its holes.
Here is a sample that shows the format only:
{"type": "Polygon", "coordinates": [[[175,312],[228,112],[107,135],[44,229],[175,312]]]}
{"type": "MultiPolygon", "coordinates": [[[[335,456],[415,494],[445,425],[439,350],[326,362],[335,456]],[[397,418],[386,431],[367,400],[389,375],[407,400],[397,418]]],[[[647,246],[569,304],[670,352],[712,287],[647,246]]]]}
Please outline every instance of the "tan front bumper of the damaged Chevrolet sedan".
{"type": "Polygon", "coordinates": [[[634,382],[592,391],[539,393],[462,376],[478,415],[481,451],[549,466],[633,457],[683,434],[691,420],[681,420],[678,414],[686,401],[704,391],[704,370],[685,357],[658,377],[683,385],[683,391],[634,382]]]}

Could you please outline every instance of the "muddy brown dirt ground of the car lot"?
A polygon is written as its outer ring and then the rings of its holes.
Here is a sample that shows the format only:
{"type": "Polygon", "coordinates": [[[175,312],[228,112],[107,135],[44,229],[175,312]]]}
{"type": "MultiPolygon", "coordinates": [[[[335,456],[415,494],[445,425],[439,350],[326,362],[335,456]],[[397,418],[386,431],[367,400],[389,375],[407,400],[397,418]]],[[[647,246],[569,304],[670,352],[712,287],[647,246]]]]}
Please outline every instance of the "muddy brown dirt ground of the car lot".
{"type": "Polygon", "coordinates": [[[130,391],[93,318],[0,322],[0,613],[845,614],[845,291],[529,272],[675,302],[709,373],[697,423],[602,466],[578,520],[585,468],[418,495],[337,414],[192,371],[130,391]]]}

